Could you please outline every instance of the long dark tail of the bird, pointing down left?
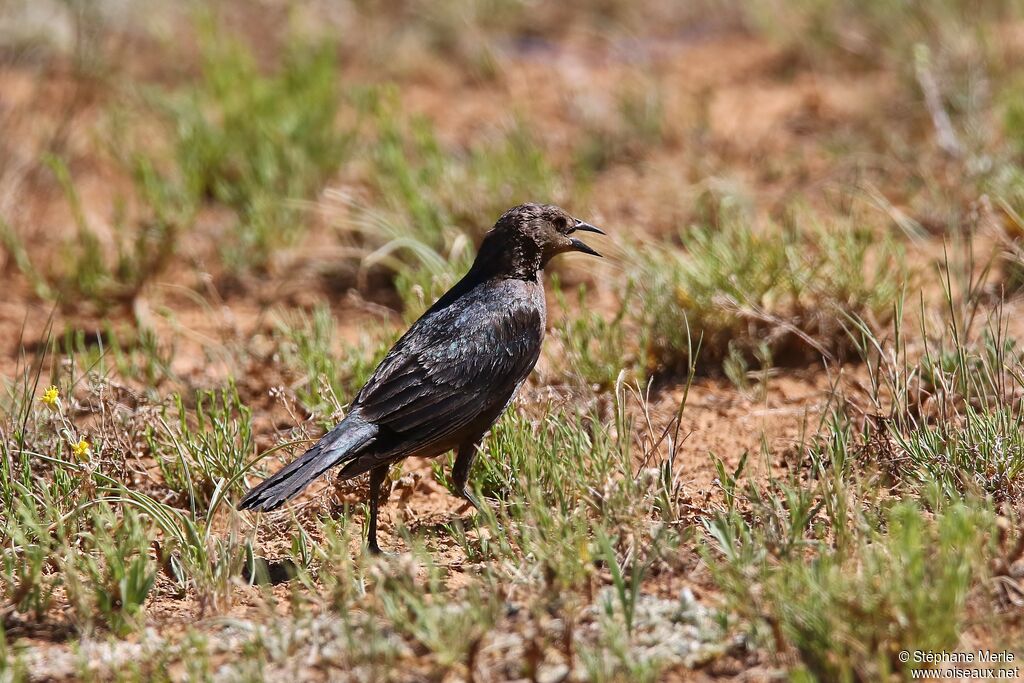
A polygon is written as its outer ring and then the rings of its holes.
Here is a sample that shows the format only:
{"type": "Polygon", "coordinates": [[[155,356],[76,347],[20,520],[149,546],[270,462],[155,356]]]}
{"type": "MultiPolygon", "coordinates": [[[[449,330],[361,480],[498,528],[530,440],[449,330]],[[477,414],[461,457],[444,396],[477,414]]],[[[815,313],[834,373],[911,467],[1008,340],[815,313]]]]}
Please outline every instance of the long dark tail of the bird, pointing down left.
{"type": "Polygon", "coordinates": [[[324,435],[301,458],[252,488],[239,502],[239,510],[274,510],[302,493],[331,467],[349,460],[369,445],[378,427],[349,415],[324,435]]]}

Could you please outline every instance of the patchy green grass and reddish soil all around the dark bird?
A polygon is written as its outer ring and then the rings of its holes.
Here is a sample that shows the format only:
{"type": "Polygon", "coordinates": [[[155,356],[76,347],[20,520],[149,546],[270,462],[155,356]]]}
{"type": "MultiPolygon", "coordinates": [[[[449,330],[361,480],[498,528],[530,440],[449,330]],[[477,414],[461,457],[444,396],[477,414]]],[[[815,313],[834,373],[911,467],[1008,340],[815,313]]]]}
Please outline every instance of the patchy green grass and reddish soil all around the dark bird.
{"type": "Polygon", "coordinates": [[[1024,354],[996,276],[1024,145],[980,26],[1017,9],[748,3],[799,57],[749,68],[778,43],[721,6],[225,10],[180,63],[138,36],[130,70],[105,60],[126,96],[24,184],[49,145],[0,119],[0,678],[906,680],[901,649],[1019,647],[1024,354]],[[874,76],[892,100],[847,117],[840,82],[874,76]],[[748,88],[799,91],[792,156],[692,120],[748,88]],[[69,218],[44,244],[47,186],[69,218]],[[484,509],[446,456],[388,481],[396,556],[362,548],[364,480],[238,513],[538,200],[623,249],[554,273],[541,366],[473,470],[484,509]]]}

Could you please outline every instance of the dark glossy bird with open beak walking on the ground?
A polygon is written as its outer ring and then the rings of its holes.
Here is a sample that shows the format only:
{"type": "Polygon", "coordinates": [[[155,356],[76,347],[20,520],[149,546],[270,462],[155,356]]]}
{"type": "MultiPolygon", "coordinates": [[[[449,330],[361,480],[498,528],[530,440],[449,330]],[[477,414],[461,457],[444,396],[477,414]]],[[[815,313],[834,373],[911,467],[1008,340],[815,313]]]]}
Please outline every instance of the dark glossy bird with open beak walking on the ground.
{"type": "Polygon", "coordinates": [[[395,342],[344,419],[304,455],[250,489],[240,510],[268,511],[334,467],[370,472],[367,546],[377,541],[380,488],[394,463],[456,452],[452,481],[477,511],[469,474],[480,443],[537,365],[547,323],[543,273],[566,252],[601,255],[577,237],[605,234],[551,204],[501,215],[466,274],[395,342]]]}

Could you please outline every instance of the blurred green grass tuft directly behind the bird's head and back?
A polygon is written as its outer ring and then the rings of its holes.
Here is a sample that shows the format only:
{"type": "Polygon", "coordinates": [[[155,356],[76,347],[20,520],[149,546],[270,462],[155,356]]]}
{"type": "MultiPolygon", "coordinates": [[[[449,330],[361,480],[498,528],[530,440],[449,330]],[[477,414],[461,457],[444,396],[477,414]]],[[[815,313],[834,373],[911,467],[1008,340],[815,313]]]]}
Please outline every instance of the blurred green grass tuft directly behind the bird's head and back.
{"type": "Polygon", "coordinates": [[[360,269],[386,268],[418,317],[472,262],[474,245],[505,209],[560,190],[555,170],[522,123],[462,148],[441,144],[426,119],[406,117],[393,93],[371,98],[367,182],[376,198],[356,203],[340,227],[366,255],[360,269]]]}

